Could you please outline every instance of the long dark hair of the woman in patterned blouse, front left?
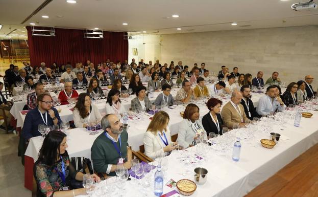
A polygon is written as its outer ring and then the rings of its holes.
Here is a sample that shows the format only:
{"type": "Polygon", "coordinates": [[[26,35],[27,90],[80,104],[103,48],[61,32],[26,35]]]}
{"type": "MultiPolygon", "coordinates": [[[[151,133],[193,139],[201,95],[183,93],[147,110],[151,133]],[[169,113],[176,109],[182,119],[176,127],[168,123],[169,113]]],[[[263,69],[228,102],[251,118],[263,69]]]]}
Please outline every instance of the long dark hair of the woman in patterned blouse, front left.
{"type": "Polygon", "coordinates": [[[48,133],[39,151],[38,161],[48,166],[54,165],[60,155],[60,145],[65,137],[66,135],[58,130],[52,130],[48,133]]]}

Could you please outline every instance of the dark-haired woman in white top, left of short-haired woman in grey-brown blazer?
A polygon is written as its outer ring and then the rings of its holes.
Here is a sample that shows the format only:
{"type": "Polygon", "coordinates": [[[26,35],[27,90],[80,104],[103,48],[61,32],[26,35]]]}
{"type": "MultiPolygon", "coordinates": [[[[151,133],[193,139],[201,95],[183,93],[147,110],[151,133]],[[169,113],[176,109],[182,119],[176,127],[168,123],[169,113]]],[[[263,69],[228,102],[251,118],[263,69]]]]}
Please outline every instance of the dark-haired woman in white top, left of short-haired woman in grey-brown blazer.
{"type": "Polygon", "coordinates": [[[120,118],[127,113],[126,108],[119,99],[120,92],[116,89],[112,89],[109,91],[106,101],[106,115],[107,114],[114,114],[120,118]]]}

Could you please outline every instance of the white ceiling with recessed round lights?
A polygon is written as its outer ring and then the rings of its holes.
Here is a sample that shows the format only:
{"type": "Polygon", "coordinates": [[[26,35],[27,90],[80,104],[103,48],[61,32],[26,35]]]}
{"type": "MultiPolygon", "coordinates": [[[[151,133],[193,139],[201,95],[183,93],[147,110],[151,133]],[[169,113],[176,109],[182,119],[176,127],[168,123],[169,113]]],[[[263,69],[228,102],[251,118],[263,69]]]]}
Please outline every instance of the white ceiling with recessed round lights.
{"type": "Polygon", "coordinates": [[[43,1],[1,1],[5,4],[1,3],[0,24],[4,26],[0,36],[9,32],[5,24],[20,25],[21,29],[30,23],[151,34],[318,25],[318,10],[293,11],[290,8],[300,0],[77,0],[76,4],[53,0],[25,24],[20,23],[43,1]],[[173,18],[173,14],[180,17],[173,18]],[[42,15],[50,18],[42,18],[42,15]],[[230,25],[233,21],[237,26],[230,25]],[[246,25],[250,27],[240,27],[246,25]],[[178,31],[178,27],[182,30],[178,31]]]}

